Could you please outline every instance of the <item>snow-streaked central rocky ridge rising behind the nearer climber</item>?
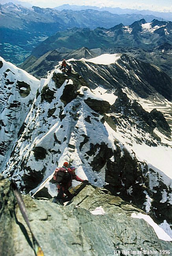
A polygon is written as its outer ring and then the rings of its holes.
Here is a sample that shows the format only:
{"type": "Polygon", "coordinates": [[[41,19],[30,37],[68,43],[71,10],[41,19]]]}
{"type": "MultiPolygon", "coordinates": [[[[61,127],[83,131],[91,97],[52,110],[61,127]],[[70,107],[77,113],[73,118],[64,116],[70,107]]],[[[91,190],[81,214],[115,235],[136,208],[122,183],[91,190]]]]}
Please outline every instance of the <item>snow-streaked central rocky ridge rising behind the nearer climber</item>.
{"type": "Polygon", "coordinates": [[[171,80],[126,54],[106,65],[97,58],[69,60],[71,75],[55,69],[41,79],[3,174],[25,193],[44,182],[52,197],[52,173],[67,160],[81,178],[170,223],[171,80]]]}

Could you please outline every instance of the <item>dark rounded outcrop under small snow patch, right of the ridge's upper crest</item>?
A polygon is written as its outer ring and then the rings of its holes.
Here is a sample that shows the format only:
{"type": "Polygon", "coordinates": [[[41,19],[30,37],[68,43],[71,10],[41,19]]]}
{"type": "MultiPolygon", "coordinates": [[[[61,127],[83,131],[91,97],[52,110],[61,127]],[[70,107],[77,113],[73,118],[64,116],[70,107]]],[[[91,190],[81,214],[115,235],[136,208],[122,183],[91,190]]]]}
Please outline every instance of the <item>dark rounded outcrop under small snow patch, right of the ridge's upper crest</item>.
{"type": "Polygon", "coordinates": [[[87,98],[84,101],[91,109],[93,109],[94,111],[100,114],[108,113],[109,109],[111,108],[111,105],[109,104],[109,102],[105,100],[96,100],[92,98],[87,98]]]}

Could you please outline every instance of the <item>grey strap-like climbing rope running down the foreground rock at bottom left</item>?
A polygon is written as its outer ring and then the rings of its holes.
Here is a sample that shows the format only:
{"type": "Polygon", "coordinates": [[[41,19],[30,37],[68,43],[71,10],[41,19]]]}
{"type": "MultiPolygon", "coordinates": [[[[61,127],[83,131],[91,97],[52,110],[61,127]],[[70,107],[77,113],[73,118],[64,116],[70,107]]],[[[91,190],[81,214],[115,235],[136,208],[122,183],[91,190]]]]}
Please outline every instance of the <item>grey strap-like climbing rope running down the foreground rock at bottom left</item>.
{"type": "Polygon", "coordinates": [[[26,206],[24,204],[24,200],[22,198],[22,195],[20,193],[20,191],[18,191],[18,188],[17,186],[14,184],[14,183],[11,183],[12,187],[13,187],[13,192],[14,192],[14,195],[15,195],[15,198],[17,200],[17,204],[19,206],[19,209],[22,213],[22,216],[24,218],[24,221],[26,222],[30,232],[31,232],[31,237],[32,237],[32,240],[33,240],[33,250],[35,252],[35,255],[36,256],[44,256],[44,253],[37,241],[37,239],[35,238],[35,236],[33,235],[33,232],[31,231],[31,226],[30,226],[30,223],[29,223],[29,219],[28,219],[28,214],[27,214],[27,211],[26,211],[26,206]]]}

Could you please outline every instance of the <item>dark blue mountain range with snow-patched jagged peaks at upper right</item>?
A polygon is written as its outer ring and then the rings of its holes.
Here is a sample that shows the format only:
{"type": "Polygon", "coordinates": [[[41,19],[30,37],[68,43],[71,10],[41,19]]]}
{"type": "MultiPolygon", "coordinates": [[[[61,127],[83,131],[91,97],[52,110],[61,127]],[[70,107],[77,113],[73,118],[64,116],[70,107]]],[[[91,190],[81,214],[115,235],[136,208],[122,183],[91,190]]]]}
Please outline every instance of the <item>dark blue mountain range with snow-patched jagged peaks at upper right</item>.
{"type": "Polygon", "coordinates": [[[137,47],[151,50],[162,43],[172,42],[172,22],[152,20],[147,23],[144,19],[133,22],[129,26],[122,23],[112,28],[70,28],[63,32],[57,32],[48,37],[37,47],[31,55],[39,58],[50,50],[59,47],[77,49],[81,47],[113,48],[113,47],[137,47]]]}

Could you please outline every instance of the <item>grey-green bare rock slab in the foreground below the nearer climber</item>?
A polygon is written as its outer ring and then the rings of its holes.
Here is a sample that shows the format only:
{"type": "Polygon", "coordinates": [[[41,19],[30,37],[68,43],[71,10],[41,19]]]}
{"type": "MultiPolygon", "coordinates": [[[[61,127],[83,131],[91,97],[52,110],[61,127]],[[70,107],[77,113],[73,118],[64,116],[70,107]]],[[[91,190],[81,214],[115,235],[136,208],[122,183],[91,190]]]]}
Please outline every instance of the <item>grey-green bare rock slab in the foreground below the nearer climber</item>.
{"type": "MultiPolygon", "coordinates": [[[[0,228],[4,230],[0,233],[0,245],[3,255],[35,255],[30,231],[18,205],[15,205],[9,181],[0,177],[0,188],[0,204],[3,206],[0,228]]],[[[132,217],[143,213],[141,210],[120,197],[111,196],[105,189],[86,186],[65,208],[29,196],[23,199],[31,230],[45,255],[113,255],[115,249],[158,253],[162,248],[170,250],[171,242],[158,239],[152,226],[144,219],[132,217]],[[90,212],[100,204],[104,215],[90,212]]]]}

